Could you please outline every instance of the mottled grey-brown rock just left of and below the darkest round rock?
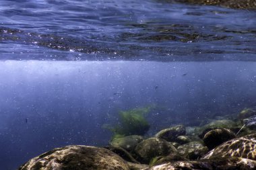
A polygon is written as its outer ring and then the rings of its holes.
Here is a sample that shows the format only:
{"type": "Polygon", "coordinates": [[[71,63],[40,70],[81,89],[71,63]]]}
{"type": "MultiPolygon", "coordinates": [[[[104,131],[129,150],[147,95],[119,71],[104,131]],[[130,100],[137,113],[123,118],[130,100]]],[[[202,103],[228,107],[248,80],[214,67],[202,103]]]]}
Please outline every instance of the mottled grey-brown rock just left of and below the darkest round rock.
{"type": "Polygon", "coordinates": [[[190,160],[195,160],[205,155],[208,151],[208,148],[203,146],[201,142],[189,142],[179,146],[177,151],[181,156],[190,160]]]}

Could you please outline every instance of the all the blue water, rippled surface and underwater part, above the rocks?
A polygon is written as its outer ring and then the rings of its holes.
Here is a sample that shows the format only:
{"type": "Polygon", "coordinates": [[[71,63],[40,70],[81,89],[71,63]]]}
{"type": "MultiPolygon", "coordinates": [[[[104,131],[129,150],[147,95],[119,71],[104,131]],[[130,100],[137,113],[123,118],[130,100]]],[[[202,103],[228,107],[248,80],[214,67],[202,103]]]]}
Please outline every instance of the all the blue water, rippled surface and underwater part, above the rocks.
{"type": "Polygon", "coordinates": [[[118,112],[148,135],[256,105],[256,12],[157,0],[0,1],[0,169],[104,146],[118,112]]]}

